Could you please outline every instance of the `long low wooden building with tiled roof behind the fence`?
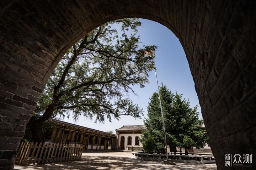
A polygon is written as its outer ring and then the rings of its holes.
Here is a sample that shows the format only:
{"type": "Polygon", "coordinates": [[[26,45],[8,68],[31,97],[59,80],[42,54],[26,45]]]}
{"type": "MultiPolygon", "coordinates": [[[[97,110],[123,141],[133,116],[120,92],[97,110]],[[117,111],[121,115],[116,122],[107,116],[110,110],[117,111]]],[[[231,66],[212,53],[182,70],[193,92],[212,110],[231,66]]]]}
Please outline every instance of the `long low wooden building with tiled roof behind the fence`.
{"type": "MultiPolygon", "coordinates": [[[[72,123],[53,119],[55,125],[44,130],[46,142],[83,144],[83,150],[114,150],[116,135],[96,129],[86,128],[72,123]]],[[[30,128],[26,130],[24,139],[32,141],[30,128]]]]}

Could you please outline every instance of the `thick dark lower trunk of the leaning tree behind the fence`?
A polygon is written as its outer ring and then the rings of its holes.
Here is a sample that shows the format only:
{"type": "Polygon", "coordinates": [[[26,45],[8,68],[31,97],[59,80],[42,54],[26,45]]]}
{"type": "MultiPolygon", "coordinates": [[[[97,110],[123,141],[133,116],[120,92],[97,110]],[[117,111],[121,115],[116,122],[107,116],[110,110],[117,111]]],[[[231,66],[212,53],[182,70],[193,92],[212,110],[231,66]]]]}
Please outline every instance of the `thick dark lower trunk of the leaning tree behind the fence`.
{"type": "Polygon", "coordinates": [[[32,139],[33,142],[45,142],[42,128],[43,128],[43,122],[39,122],[38,120],[35,120],[33,117],[28,121],[28,124],[30,126],[31,132],[32,132],[32,139]]]}

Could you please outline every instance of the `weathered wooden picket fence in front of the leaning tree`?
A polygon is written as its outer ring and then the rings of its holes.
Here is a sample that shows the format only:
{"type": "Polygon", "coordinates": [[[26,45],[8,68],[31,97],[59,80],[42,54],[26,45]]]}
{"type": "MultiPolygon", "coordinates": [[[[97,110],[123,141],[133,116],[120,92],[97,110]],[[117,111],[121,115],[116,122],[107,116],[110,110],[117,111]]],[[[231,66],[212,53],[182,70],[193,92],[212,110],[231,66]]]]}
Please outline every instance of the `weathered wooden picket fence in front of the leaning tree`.
{"type": "Polygon", "coordinates": [[[83,145],[62,143],[22,142],[18,147],[17,165],[43,164],[57,161],[81,160],[83,145]]]}

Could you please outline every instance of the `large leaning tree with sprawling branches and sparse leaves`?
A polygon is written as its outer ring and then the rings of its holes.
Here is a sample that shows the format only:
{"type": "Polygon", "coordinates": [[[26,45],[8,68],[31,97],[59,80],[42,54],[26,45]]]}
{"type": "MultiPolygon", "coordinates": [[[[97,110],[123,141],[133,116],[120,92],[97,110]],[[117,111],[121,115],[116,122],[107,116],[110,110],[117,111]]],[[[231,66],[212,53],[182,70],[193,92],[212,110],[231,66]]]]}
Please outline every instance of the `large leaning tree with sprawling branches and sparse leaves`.
{"type": "Polygon", "coordinates": [[[44,142],[44,123],[56,116],[80,115],[104,122],[120,115],[143,114],[130,95],[134,85],[144,87],[154,69],[156,46],[139,46],[138,19],[103,24],[73,45],[63,56],[42,92],[29,121],[33,141],[44,142]],[[118,27],[119,31],[114,27],[118,27]]]}

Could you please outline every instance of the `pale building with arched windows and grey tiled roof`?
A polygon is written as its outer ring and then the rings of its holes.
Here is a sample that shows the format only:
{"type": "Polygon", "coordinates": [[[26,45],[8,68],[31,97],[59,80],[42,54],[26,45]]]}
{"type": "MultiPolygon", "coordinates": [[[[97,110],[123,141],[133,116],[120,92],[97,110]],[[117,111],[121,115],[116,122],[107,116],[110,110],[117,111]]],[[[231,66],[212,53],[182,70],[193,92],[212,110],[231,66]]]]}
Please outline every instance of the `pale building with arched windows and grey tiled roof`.
{"type": "Polygon", "coordinates": [[[142,151],[143,146],[139,141],[142,135],[142,130],[145,130],[145,125],[127,125],[116,129],[116,150],[142,151]]]}

